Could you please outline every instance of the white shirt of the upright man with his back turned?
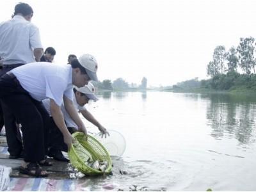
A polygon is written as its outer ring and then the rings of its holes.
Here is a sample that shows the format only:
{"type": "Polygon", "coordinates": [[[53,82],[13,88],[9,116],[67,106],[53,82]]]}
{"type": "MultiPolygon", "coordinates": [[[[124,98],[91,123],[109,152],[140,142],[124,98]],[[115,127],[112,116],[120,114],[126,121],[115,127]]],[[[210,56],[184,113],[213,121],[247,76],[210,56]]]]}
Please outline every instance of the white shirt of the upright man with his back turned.
{"type": "Polygon", "coordinates": [[[0,24],[0,57],[4,65],[35,62],[33,49],[43,48],[38,28],[20,15],[0,24]]]}

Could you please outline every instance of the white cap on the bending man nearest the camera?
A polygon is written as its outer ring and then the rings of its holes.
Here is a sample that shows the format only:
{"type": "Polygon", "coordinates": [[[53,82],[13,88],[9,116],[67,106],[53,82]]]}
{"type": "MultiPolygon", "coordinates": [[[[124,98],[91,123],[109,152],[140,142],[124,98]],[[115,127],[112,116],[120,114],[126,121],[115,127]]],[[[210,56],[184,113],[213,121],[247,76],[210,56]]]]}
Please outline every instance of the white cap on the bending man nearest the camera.
{"type": "Polygon", "coordinates": [[[78,58],[79,63],[85,68],[86,73],[93,81],[98,81],[97,69],[98,63],[95,58],[90,54],[83,54],[78,58]]]}

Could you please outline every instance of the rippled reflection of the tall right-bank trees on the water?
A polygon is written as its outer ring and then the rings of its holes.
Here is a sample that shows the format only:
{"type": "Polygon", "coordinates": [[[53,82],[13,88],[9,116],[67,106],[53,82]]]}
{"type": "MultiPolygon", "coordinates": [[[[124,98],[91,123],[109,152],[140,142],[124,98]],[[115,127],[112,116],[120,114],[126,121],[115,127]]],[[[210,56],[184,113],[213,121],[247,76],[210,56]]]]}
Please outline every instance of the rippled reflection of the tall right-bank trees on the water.
{"type": "Polygon", "coordinates": [[[241,143],[250,143],[255,128],[255,97],[252,95],[211,94],[207,120],[214,138],[234,136],[241,143]]]}

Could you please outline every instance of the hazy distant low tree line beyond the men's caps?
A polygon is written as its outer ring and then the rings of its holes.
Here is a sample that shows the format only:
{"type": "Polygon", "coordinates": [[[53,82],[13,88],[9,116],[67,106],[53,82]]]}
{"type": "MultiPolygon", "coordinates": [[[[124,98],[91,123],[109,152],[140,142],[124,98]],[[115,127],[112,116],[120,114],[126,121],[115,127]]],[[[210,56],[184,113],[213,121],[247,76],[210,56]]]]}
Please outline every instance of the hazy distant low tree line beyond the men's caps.
{"type": "Polygon", "coordinates": [[[141,80],[141,84],[136,83],[127,83],[121,77],[115,79],[113,83],[109,79],[105,79],[99,82],[93,82],[94,86],[97,87],[99,90],[146,90],[147,89],[147,78],[143,77],[141,80]]]}

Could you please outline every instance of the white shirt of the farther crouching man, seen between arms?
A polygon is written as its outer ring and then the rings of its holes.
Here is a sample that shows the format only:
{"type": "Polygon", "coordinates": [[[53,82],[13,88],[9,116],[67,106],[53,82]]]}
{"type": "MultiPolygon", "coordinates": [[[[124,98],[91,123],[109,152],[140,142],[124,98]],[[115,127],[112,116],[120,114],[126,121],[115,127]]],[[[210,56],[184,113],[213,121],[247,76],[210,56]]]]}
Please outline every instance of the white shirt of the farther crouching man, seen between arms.
{"type": "MultiPolygon", "coordinates": [[[[42,102],[44,104],[45,109],[48,111],[49,115],[51,115],[51,102],[50,102],[50,99],[44,99],[44,100],[42,100],[42,102]]],[[[77,109],[77,111],[83,111],[83,110],[86,109],[84,106],[82,107],[82,106],[79,106],[79,104],[77,104],[76,95],[75,95],[74,92],[73,92],[73,104],[74,104],[75,108],[77,109]]],[[[74,127],[74,128],[77,129],[76,123],[72,120],[70,115],[68,115],[68,112],[65,109],[65,106],[64,106],[63,103],[61,104],[61,111],[63,113],[63,116],[64,116],[65,122],[67,124],[67,127],[74,127]]]]}

